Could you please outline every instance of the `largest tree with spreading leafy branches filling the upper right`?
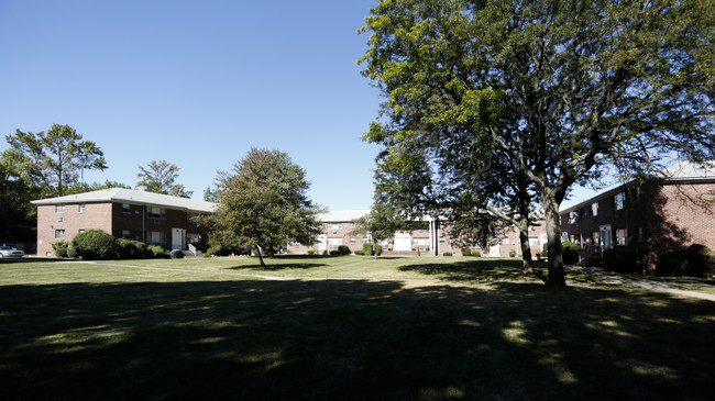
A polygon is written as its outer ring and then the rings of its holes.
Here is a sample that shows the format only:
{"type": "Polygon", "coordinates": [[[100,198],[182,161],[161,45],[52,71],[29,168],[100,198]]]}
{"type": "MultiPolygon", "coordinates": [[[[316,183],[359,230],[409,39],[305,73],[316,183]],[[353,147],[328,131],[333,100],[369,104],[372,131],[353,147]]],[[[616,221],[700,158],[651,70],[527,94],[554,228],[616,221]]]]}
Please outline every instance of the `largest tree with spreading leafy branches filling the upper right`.
{"type": "MultiPolygon", "coordinates": [[[[559,205],[605,168],[640,174],[714,156],[715,5],[700,0],[385,0],[364,74],[387,97],[366,140],[428,163],[513,164],[536,186],[548,286],[564,287],[559,205]]],[[[466,165],[469,166],[469,164],[466,165]]]]}

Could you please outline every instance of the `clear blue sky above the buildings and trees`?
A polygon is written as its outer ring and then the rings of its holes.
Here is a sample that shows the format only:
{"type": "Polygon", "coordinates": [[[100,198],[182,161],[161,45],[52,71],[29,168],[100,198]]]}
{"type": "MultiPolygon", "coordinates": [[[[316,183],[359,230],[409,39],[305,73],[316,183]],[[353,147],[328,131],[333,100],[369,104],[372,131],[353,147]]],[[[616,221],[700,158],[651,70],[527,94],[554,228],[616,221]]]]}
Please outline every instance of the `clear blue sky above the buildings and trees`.
{"type": "Polygon", "coordinates": [[[85,181],[134,186],[167,160],[200,199],[251,147],[279,149],[315,202],[369,209],[377,147],[360,137],[382,100],[356,31],[375,3],[0,0],[0,151],[68,124],[109,165],[85,181]]]}

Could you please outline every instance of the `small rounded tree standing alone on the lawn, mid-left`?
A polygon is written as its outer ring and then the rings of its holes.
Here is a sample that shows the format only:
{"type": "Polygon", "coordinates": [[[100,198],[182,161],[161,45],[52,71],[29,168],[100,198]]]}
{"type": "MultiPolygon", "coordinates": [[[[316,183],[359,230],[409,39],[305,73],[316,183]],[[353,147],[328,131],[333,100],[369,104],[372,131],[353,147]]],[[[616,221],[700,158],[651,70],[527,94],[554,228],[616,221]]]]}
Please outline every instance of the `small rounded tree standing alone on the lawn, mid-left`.
{"type": "Polygon", "coordinates": [[[320,233],[319,213],[307,191],[306,171],[278,151],[252,148],[230,171],[219,171],[219,207],[208,220],[209,243],[263,252],[297,242],[309,245],[320,233]]]}

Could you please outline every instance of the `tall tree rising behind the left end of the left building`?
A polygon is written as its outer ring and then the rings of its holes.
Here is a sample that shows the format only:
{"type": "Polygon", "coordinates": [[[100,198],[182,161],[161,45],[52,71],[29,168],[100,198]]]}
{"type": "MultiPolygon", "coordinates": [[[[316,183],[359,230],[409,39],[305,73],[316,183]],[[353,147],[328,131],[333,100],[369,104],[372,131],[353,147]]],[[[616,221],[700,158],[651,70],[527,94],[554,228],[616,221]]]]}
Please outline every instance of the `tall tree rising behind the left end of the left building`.
{"type": "Polygon", "coordinates": [[[6,140],[21,155],[25,172],[36,180],[43,197],[66,194],[85,169],[107,168],[102,151],[94,142],[84,141],[69,125],[53,124],[46,133],[36,134],[16,130],[6,140]]]}

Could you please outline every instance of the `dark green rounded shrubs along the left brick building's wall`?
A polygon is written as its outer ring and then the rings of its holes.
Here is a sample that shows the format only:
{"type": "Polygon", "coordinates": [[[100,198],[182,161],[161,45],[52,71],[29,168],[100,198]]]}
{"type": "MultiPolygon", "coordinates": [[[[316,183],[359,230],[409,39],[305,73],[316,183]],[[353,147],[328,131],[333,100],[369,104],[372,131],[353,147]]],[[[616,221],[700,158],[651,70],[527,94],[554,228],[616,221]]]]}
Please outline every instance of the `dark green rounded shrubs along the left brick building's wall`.
{"type": "Polygon", "coordinates": [[[147,259],[169,257],[158,245],[146,245],[140,241],[114,238],[101,230],[87,230],[78,234],[72,244],[58,241],[52,244],[57,257],[80,257],[99,259],[147,259]]]}

